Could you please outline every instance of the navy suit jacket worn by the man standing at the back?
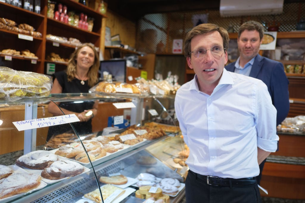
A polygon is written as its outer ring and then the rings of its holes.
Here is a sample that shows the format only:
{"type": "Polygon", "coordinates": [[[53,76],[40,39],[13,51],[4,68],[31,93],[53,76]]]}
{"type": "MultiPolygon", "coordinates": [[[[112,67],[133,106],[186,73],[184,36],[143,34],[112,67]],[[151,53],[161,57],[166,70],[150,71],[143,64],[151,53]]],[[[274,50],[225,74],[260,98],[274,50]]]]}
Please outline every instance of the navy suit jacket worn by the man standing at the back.
{"type": "MultiPolygon", "coordinates": [[[[228,71],[234,72],[235,62],[225,66],[228,71]]],[[[281,124],[289,112],[289,81],[281,62],[257,55],[250,72],[250,77],[262,80],[268,87],[272,104],[277,110],[276,125],[281,124]]]]}

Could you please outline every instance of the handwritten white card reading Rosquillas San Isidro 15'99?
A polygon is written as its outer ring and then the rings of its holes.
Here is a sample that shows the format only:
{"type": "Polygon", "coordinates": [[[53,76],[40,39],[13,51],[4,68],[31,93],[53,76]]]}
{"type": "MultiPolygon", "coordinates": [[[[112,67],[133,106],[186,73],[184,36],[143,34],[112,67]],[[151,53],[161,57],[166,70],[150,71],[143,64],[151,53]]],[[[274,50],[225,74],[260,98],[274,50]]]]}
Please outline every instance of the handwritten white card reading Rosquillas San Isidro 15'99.
{"type": "Polygon", "coordinates": [[[16,121],[13,122],[13,124],[19,131],[21,131],[21,130],[29,130],[34,128],[56,126],[65,123],[73,123],[77,121],[80,120],[77,118],[75,114],[69,114],[69,115],[54,116],[54,117],[41,118],[41,119],[16,121]]]}

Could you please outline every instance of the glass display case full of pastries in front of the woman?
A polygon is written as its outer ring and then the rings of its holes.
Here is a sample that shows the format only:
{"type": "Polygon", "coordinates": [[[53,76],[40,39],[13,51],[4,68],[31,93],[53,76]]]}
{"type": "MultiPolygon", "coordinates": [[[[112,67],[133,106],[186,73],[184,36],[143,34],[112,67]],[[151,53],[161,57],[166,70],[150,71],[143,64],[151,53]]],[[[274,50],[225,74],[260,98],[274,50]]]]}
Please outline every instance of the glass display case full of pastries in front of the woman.
{"type": "Polygon", "coordinates": [[[174,96],[52,94],[0,100],[0,106],[0,203],[143,202],[150,197],[178,202],[184,196],[187,147],[174,115],[174,96]],[[61,115],[49,113],[51,102],[61,115]],[[77,115],[63,113],[63,108],[94,102],[99,107],[97,115],[88,115],[92,130],[82,127],[77,115]],[[169,179],[175,180],[174,190],[163,187],[169,179]]]}

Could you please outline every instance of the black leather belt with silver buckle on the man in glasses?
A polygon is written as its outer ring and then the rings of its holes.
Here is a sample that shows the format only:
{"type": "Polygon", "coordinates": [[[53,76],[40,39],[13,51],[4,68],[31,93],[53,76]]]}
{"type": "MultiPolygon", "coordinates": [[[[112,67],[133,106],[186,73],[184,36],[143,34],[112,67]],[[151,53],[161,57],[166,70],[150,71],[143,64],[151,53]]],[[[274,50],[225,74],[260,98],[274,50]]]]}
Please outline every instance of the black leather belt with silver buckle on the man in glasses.
{"type": "Polygon", "coordinates": [[[200,175],[198,173],[195,173],[191,170],[188,172],[193,173],[198,179],[206,181],[208,185],[213,185],[213,186],[250,186],[250,185],[255,185],[256,180],[252,178],[240,178],[240,179],[234,179],[234,178],[220,178],[217,176],[204,176],[200,175]]]}

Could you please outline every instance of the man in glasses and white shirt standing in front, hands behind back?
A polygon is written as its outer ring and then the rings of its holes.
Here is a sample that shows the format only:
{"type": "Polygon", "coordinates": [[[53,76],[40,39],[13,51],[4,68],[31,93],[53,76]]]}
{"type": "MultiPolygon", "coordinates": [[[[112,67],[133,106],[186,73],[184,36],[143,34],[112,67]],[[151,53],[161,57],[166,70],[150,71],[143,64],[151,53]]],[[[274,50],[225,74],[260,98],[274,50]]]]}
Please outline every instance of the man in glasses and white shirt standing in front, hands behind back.
{"type": "Polygon", "coordinates": [[[276,109],[267,87],[224,69],[228,42],[228,32],[210,23],[185,37],[195,77],[178,89],[175,111],[190,149],[187,202],[261,202],[253,177],[277,149],[276,109]]]}

